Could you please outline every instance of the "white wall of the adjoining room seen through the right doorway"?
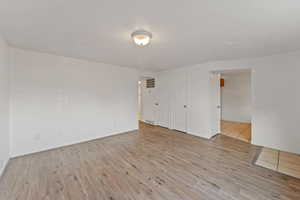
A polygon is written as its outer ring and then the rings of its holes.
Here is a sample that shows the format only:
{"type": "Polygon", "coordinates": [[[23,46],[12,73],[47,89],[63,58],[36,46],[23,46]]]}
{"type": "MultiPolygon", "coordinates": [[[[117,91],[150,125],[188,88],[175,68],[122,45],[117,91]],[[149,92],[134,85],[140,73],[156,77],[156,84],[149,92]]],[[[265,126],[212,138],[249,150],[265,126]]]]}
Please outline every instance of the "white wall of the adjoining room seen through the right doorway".
{"type": "Polygon", "coordinates": [[[223,73],[222,120],[251,122],[251,72],[223,73]]]}

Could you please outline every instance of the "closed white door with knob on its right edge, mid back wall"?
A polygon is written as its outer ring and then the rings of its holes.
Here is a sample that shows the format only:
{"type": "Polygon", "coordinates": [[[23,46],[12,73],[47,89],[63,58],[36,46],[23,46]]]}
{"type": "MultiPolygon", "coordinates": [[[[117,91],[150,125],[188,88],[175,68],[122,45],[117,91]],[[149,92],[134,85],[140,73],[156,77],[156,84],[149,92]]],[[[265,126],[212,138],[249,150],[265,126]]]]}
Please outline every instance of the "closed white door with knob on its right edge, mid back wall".
{"type": "Polygon", "coordinates": [[[172,81],[173,97],[173,129],[187,131],[187,74],[183,71],[175,72],[172,81]]]}

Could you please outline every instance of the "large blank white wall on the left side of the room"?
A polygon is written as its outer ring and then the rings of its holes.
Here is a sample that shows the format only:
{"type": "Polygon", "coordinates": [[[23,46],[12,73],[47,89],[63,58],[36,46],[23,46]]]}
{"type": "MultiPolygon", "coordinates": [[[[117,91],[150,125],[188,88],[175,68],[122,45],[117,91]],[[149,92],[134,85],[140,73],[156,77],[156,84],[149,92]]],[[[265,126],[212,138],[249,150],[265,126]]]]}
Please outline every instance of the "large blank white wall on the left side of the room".
{"type": "Polygon", "coordinates": [[[138,128],[138,71],[11,49],[12,156],[138,128]]]}

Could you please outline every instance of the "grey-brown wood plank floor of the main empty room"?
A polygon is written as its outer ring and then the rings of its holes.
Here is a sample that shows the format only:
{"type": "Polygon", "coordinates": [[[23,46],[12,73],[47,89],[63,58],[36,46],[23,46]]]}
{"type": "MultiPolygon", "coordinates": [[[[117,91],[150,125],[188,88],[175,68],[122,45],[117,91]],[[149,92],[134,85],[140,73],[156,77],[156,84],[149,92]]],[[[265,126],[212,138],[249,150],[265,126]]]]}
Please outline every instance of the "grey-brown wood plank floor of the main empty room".
{"type": "Polygon", "coordinates": [[[299,200],[300,180],[253,165],[259,147],[139,131],[10,161],[1,200],[299,200]]]}

